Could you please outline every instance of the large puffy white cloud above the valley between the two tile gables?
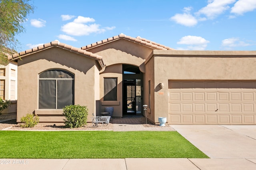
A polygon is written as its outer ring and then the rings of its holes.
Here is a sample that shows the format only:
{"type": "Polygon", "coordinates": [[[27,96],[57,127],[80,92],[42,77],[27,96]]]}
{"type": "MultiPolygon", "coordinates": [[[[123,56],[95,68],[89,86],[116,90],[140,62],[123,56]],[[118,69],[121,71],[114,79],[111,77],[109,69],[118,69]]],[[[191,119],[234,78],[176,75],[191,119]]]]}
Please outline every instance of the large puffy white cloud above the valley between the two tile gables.
{"type": "Polygon", "coordinates": [[[100,24],[92,23],[86,24],[88,22],[94,22],[93,18],[78,16],[74,21],[66,23],[61,27],[61,30],[68,35],[83,36],[90,35],[91,33],[103,33],[106,30],[112,30],[115,27],[105,27],[101,28],[100,24]]]}

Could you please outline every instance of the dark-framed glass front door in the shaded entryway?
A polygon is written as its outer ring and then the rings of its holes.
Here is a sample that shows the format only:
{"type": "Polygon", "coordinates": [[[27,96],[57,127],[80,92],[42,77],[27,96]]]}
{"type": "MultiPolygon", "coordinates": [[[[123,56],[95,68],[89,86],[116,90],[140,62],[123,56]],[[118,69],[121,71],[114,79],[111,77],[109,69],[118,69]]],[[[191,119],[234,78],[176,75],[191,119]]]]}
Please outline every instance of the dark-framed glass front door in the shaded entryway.
{"type": "Polygon", "coordinates": [[[125,79],[123,86],[124,114],[141,114],[141,80],[125,79]]]}

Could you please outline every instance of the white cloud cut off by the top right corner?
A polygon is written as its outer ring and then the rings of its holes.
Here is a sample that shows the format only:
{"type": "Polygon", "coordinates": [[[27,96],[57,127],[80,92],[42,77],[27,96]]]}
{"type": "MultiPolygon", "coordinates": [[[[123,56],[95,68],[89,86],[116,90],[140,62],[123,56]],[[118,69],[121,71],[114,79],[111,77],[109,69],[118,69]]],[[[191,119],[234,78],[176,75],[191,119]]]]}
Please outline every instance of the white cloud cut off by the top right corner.
{"type": "Polygon", "coordinates": [[[242,15],[256,9],[256,0],[238,0],[231,8],[231,13],[242,15]]]}

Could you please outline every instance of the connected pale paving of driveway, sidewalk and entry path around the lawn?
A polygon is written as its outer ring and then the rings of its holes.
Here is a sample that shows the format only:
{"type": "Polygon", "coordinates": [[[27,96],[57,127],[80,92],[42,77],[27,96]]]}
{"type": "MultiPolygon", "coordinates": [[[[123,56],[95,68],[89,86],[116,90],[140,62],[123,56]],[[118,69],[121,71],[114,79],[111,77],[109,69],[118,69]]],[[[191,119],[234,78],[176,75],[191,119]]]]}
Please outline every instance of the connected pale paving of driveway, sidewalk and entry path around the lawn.
{"type": "MultiPolygon", "coordinates": [[[[151,128],[134,121],[121,119],[113,130],[151,128]]],[[[178,131],[210,158],[0,159],[0,170],[256,170],[255,125],[172,125],[150,130],[156,129],[178,131]]]]}

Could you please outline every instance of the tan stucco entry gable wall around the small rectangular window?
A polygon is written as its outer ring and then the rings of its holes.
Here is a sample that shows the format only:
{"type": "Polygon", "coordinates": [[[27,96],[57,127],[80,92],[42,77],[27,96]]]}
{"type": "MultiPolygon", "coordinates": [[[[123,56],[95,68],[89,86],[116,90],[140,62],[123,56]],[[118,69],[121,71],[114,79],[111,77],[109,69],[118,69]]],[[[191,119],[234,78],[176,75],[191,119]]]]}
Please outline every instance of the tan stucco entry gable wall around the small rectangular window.
{"type": "Polygon", "coordinates": [[[119,39],[111,43],[88,49],[103,57],[106,68],[100,73],[100,103],[97,115],[104,111],[105,107],[114,107],[114,117],[122,117],[122,64],[131,64],[140,67],[144,72],[144,61],[152,53],[152,49],[138,45],[137,43],[119,39]],[[104,78],[117,78],[117,101],[104,101],[104,78]]]}

